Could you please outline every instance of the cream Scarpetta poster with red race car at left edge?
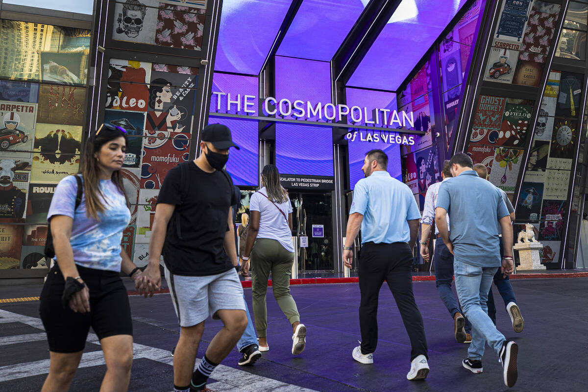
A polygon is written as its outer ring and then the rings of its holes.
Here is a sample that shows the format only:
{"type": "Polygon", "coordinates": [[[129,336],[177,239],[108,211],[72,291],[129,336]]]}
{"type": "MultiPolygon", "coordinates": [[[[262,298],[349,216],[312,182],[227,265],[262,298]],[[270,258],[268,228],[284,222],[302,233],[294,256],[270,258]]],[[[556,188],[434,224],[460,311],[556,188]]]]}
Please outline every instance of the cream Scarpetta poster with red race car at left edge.
{"type": "Polygon", "coordinates": [[[36,103],[0,101],[0,150],[30,158],[36,129],[36,103]]]}

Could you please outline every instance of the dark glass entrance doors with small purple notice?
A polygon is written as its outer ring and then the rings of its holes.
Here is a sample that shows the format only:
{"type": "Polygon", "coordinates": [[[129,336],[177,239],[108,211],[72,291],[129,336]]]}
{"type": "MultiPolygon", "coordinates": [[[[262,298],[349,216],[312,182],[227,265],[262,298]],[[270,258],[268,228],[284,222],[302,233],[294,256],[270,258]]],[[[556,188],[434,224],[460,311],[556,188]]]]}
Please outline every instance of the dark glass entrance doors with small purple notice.
{"type": "Polygon", "coordinates": [[[333,273],[331,192],[290,192],[289,195],[293,209],[292,236],[298,242],[295,245],[299,274],[333,273]]]}

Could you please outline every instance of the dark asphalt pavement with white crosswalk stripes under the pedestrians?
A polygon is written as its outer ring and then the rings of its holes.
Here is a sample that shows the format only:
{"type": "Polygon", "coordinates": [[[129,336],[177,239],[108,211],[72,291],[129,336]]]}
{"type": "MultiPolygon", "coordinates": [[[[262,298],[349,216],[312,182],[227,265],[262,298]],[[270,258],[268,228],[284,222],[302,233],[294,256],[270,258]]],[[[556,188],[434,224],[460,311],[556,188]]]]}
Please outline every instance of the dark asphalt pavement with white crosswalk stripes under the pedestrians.
{"type": "MultiPolygon", "coordinates": [[[[132,282],[128,288],[131,289],[132,282]]],[[[525,320],[516,334],[504,307],[499,309],[499,329],[519,343],[517,391],[588,390],[588,278],[517,279],[512,282],[525,320]]],[[[0,287],[0,298],[38,296],[40,285],[0,287]]],[[[407,381],[410,346],[392,294],[380,292],[379,343],[374,364],[351,357],[358,345],[359,287],[357,284],[292,286],[302,322],[308,329],[307,348],[292,357],[292,329],[268,290],[270,351],[253,367],[239,367],[235,350],[212,375],[216,391],[503,391],[502,367],[489,349],[484,372],[473,374],[461,366],[467,346],[453,338],[452,319],[443,306],[435,282],[415,282],[416,302],[425,320],[429,365],[425,381],[407,381]]],[[[251,309],[251,292],[245,289],[251,309]]],[[[502,304],[495,292],[497,304],[502,304]]],[[[172,357],[178,326],[169,294],[152,299],[131,297],[135,360],[129,391],[172,390],[172,357]]],[[[0,391],[38,391],[48,371],[48,347],[40,320],[39,302],[0,304],[0,391]]],[[[222,327],[206,321],[199,350],[202,356],[222,327]]],[[[90,337],[89,341],[92,341],[90,337]]],[[[99,389],[105,371],[99,345],[86,344],[72,391],[99,389]]]]}

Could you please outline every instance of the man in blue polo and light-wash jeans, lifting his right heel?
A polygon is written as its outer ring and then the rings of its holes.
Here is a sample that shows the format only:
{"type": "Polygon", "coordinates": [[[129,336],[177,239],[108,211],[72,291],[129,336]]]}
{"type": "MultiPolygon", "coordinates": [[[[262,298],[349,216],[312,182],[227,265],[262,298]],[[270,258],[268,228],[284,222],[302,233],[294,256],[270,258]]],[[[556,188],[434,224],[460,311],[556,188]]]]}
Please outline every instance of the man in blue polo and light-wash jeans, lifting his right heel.
{"type": "Polygon", "coordinates": [[[502,362],[506,386],[512,387],[517,379],[519,347],[496,329],[486,304],[497,269],[502,268],[506,274],[515,270],[510,215],[500,190],[477,175],[469,156],[457,153],[449,164],[453,178],[439,187],[435,221],[443,242],[454,255],[457,296],[463,313],[472,323],[472,343],[462,365],[473,373],[482,373],[484,345],[488,343],[502,362]],[[447,213],[451,234],[447,229],[447,213]],[[502,266],[497,221],[503,234],[502,266]]]}

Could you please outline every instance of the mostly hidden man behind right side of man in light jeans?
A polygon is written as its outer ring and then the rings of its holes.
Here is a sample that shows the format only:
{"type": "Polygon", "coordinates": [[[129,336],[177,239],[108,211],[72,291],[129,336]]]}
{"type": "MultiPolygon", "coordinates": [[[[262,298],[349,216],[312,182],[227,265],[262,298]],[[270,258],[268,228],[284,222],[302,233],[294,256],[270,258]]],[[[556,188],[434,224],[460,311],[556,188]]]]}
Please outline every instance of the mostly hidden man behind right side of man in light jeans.
{"type": "MultiPolygon", "coordinates": [[[[478,173],[478,176],[483,179],[488,179],[488,169],[486,166],[482,165],[482,163],[476,163],[474,165],[474,170],[478,173]]],[[[513,222],[515,220],[515,207],[513,207],[512,203],[508,196],[506,196],[506,192],[500,188],[500,193],[502,194],[502,200],[505,201],[506,209],[509,211],[510,214],[510,221],[513,222]]],[[[500,226],[498,227],[498,233],[502,234],[502,230],[500,230],[500,226]]],[[[502,249],[502,242],[500,243],[500,256],[504,255],[502,249]]],[[[494,276],[494,284],[500,293],[500,296],[505,301],[506,312],[510,316],[510,322],[513,325],[513,330],[515,332],[522,332],[524,328],[524,320],[523,316],[520,313],[519,306],[516,304],[516,297],[515,297],[515,290],[513,289],[512,284],[510,284],[509,276],[503,274],[502,272],[497,271],[494,276]]],[[[492,294],[492,290],[488,293],[488,316],[492,319],[494,325],[496,325],[496,306],[494,304],[494,295],[492,294]]]]}

